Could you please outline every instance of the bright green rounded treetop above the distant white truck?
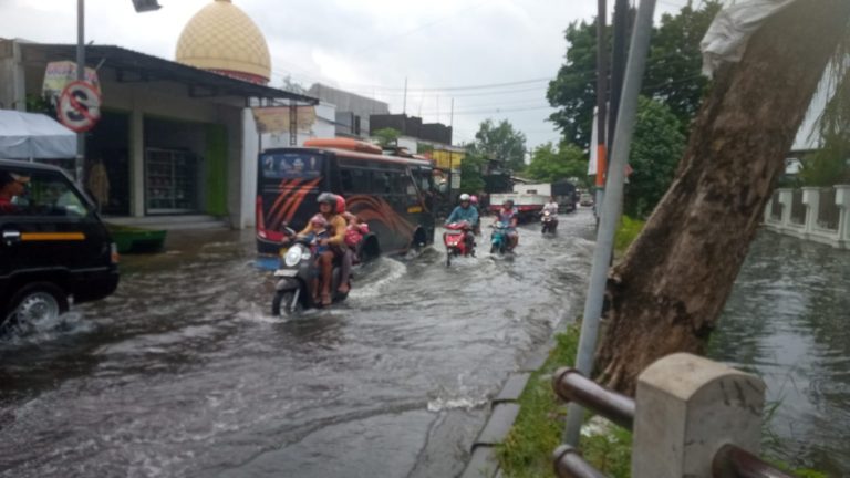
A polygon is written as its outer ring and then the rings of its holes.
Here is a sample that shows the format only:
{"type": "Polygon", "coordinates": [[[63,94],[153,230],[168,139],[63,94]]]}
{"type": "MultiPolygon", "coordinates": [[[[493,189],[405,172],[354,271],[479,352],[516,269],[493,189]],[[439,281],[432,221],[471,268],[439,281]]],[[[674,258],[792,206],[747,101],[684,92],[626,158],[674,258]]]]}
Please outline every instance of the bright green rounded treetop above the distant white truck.
{"type": "Polygon", "coordinates": [[[588,186],[588,158],[574,144],[546,143],[531,153],[531,163],[524,174],[541,183],[577,178],[580,185],[588,186]]]}

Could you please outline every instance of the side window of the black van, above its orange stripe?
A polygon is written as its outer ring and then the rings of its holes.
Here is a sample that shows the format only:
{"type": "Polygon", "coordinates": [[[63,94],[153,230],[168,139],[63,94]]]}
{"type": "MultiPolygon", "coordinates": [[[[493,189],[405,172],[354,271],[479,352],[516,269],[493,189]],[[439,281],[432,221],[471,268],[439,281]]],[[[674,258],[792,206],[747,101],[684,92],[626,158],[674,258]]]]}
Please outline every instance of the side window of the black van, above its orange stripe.
{"type": "Polygon", "coordinates": [[[12,199],[18,215],[83,218],[91,212],[86,201],[64,177],[33,172],[24,191],[12,199]]]}

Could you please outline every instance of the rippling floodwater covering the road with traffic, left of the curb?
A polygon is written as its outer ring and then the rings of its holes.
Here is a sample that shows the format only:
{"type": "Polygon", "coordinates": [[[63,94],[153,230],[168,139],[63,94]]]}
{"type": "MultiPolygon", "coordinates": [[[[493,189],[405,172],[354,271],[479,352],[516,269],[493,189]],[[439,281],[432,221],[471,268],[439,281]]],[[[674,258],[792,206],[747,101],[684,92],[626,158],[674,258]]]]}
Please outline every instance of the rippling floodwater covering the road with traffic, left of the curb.
{"type": "Polygon", "coordinates": [[[296,319],[270,316],[250,233],[173,238],[107,300],[0,340],[0,477],[455,476],[508,374],[580,313],[593,219],[449,269],[438,236],[296,319]]]}

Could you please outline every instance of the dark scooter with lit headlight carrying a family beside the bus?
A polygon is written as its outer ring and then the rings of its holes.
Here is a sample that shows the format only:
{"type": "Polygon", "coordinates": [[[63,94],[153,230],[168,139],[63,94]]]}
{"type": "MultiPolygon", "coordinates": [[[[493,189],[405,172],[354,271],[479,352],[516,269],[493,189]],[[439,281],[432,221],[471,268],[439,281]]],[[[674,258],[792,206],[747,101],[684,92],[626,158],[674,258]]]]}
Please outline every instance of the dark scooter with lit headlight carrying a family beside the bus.
{"type": "MultiPolygon", "coordinates": [[[[280,264],[274,271],[274,299],[271,301],[271,314],[296,314],[307,309],[320,308],[313,300],[313,279],[320,277],[319,254],[313,251],[309,239],[298,237],[290,228],[283,229],[289,239],[289,247],[281,249],[280,264]]],[[[331,301],[341,302],[348,298],[340,287],[340,263],[334,260],[331,279],[331,301]]],[[[349,282],[351,287],[351,282],[349,282]]]]}

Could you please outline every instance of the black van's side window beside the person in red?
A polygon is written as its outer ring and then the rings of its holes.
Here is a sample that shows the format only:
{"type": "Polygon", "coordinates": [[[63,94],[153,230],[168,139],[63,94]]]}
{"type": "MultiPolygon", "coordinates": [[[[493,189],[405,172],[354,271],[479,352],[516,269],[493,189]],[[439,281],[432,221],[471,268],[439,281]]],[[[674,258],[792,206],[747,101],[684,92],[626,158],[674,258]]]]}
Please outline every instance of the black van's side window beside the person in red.
{"type": "Polygon", "coordinates": [[[56,173],[0,170],[0,176],[17,184],[0,186],[0,214],[83,218],[91,212],[71,183],[56,173]]]}

